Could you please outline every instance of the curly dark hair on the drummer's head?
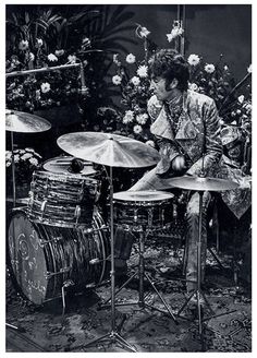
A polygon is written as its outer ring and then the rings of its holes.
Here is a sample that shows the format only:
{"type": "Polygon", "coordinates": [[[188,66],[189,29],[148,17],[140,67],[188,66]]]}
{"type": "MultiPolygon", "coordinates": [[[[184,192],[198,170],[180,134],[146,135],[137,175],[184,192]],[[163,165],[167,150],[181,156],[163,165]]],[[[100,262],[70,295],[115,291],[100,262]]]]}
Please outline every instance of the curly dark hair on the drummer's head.
{"type": "Polygon", "coordinates": [[[166,79],[166,87],[169,88],[173,79],[178,80],[178,88],[186,91],[189,80],[189,68],[184,57],[175,49],[160,49],[148,61],[151,77],[166,79]]]}

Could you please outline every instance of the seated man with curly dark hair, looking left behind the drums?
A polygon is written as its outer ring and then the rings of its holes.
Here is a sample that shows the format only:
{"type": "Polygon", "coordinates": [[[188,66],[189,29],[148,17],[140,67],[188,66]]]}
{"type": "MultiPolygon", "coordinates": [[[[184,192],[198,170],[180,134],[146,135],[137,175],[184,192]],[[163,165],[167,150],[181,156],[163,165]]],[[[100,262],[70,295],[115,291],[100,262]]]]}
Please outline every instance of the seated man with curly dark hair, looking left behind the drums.
{"type": "MultiPolygon", "coordinates": [[[[149,73],[150,90],[154,92],[148,103],[148,112],[152,119],[150,130],[157,138],[161,160],[130,190],[161,190],[162,179],[183,175],[199,176],[203,169],[205,176],[215,177],[219,171],[222,143],[213,99],[188,90],[188,63],[173,49],[161,49],[156,52],[149,60],[149,73]]],[[[191,294],[197,285],[199,194],[189,191],[188,193],[185,253],[186,286],[191,294]]],[[[204,192],[201,279],[205,273],[206,220],[210,199],[210,193],[204,192]]],[[[119,232],[117,251],[122,241],[122,235],[119,232]]],[[[125,242],[127,246],[127,238],[125,242]]]]}

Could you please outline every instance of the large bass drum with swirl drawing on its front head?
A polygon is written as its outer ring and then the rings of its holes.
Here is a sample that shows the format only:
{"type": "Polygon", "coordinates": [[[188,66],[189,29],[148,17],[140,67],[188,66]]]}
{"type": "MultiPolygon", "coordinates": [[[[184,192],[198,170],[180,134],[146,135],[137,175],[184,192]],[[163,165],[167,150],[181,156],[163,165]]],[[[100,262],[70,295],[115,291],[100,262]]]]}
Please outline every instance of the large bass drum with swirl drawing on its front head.
{"type": "Polygon", "coordinates": [[[61,296],[64,282],[74,290],[95,287],[109,275],[109,236],[98,212],[90,229],[34,223],[15,210],[8,230],[10,265],[22,294],[35,305],[61,296]],[[99,260],[91,265],[90,260],[99,260]]]}

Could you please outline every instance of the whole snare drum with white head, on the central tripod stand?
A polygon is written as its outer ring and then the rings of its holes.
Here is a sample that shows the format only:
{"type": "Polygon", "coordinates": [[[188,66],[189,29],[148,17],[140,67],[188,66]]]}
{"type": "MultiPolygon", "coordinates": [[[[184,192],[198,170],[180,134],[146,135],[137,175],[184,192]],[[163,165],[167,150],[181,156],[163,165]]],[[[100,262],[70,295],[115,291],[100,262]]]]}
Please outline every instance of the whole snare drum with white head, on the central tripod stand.
{"type": "Polygon", "coordinates": [[[113,222],[127,230],[167,227],[173,215],[173,194],[162,191],[123,191],[113,194],[113,222]]]}

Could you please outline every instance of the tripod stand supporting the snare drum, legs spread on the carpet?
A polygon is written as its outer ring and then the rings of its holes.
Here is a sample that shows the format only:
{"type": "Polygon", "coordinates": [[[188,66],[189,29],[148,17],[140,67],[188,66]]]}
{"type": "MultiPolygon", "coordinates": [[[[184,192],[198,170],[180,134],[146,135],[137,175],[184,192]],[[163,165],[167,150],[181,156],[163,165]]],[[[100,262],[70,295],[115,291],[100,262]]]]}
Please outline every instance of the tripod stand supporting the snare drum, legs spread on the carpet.
{"type": "MultiPolygon", "coordinates": [[[[175,324],[179,324],[174,314],[172,313],[171,309],[169,308],[168,303],[166,302],[166,300],[163,299],[163,297],[161,296],[161,294],[159,293],[159,290],[157,289],[155,283],[151,281],[150,276],[145,272],[145,240],[148,236],[149,231],[147,229],[142,229],[139,231],[139,260],[138,260],[138,272],[134,273],[120,288],[119,290],[115,291],[115,295],[118,295],[131,281],[133,277],[135,277],[136,275],[138,275],[139,278],[139,287],[138,287],[138,301],[132,301],[132,302],[125,302],[125,303],[117,303],[117,306],[131,306],[131,305],[138,305],[142,309],[145,308],[149,308],[151,310],[156,310],[159,311],[161,313],[169,313],[169,315],[173,319],[173,321],[175,322],[175,324]],[[159,297],[159,299],[161,300],[161,302],[163,303],[164,308],[167,311],[161,310],[152,305],[149,305],[145,301],[145,293],[144,293],[144,278],[147,278],[147,281],[149,282],[149,284],[151,285],[151,287],[154,288],[154,290],[156,291],[157,296],[159,297]]],[[[106,300],[100,308],[107,307],[107,302],[110,300],[110,298],[108,300],[106,300]]]]}

